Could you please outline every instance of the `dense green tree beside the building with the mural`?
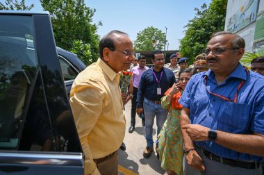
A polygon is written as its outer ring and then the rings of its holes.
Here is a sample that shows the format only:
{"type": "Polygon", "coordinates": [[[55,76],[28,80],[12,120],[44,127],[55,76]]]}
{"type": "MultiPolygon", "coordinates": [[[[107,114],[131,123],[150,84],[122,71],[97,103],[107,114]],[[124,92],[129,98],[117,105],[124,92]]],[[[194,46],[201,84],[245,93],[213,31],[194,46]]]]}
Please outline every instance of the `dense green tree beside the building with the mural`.
{"type": "Polygon", "coordinates": [[[213,0],[209,7],[204,3],[201,10],[195,8],[194,19],[185,26],[185,36],[180,40],[181,56],[195,60],[204,52],[212,33],[224,30],[227,0],[213,0]]]}

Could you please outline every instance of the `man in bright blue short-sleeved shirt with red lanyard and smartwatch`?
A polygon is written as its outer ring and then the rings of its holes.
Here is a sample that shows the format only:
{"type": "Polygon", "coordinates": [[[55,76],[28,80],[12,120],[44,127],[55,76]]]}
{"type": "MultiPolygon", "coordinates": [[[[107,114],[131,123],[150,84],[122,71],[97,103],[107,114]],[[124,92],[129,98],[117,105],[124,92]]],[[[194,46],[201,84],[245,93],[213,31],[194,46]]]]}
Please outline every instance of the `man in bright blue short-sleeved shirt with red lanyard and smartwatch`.
{"type": "Polygon", "coordinates": [[[179,100],[185,174],[262,174],[264,78],[239,63],[244,51],[240,36],[214,33],[210,70],[192,76],[179,100]]]}

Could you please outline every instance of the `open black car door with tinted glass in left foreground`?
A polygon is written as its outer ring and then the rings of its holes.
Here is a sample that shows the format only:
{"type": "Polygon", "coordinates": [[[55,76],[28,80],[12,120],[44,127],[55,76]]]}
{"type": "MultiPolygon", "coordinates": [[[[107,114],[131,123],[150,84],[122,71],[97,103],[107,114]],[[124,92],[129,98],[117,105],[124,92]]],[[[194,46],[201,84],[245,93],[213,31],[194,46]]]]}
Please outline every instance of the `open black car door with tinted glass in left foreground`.
{"type": "Polygon", "coordinates": [[[81,69],[56,49],[48,12],[0,11],[0,24],[0,174],[83,174],[65,89],[81,69]]]}

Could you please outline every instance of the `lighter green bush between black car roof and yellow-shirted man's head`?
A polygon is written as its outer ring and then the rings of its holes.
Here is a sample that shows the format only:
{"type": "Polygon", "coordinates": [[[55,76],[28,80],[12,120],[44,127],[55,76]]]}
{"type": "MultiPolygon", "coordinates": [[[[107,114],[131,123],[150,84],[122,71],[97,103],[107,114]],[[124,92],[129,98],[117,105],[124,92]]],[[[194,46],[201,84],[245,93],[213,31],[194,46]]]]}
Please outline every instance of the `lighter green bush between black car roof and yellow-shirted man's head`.
{"type": "Polygon", "coordinates": [[[85,44],[82,40],[75,40],[74,46],[70,51],[76,53],[85,65],[90,65],[96,61],[95,59],[92,59],[92,53],[90,50],[90,44],[85,44]]]}

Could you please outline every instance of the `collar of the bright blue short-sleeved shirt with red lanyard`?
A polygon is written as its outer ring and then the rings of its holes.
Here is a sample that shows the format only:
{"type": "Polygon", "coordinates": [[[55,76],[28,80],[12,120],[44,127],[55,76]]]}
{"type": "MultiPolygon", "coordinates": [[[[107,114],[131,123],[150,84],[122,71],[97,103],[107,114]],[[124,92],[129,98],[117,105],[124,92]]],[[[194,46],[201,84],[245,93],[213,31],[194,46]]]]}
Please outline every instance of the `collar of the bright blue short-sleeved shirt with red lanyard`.
{"type": "MultiPolygon", "coordinates": [[[[215,74],[211,69],[209,69],[204,76],[208,76],[208,78],[215,79],[215,74]]],[[[233,70],[233,72],[226,78],[228,80],[229,78],[240,78],[242,80],[247,80],[247,72],[245,71],[245,67],[241,65],[241,63],[238,63],[238,66],[236,69],[233,70]]]]}

